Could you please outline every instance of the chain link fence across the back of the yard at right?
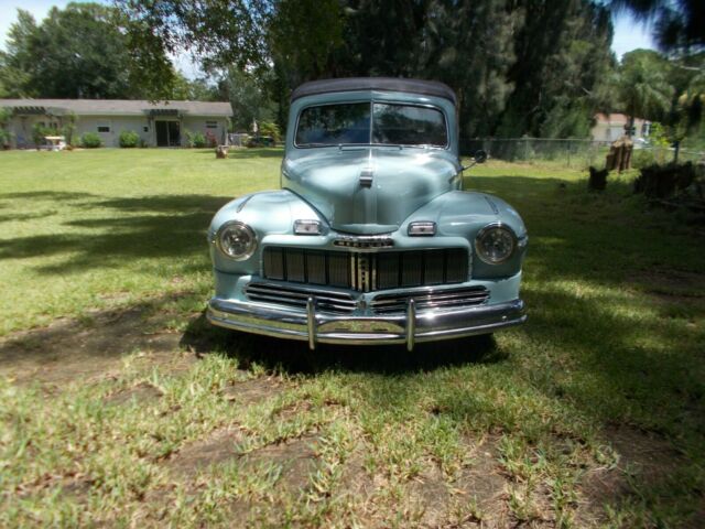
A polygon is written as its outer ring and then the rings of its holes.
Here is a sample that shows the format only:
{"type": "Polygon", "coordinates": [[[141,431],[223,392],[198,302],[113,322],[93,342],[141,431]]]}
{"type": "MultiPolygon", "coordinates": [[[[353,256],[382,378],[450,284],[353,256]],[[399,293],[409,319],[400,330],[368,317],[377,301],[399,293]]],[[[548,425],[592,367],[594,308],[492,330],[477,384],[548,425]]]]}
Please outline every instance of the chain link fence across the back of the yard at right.
{"type": "MultiPolygon", "coordinates": [[[[491,138],[466,140],[464,151],[474,153],[479,149],[487,151],[490,159],[516,163],[555,164],[571,169],[605,166],[605,158],[611,141],[553,138],[491,138]]],[[[669,163],[677,155],[679,162],[694,163],[705,161],[705,152],[674,148],[654,148],[634,142],[632,168],[642,168],[652,163],[669,163]]]]}

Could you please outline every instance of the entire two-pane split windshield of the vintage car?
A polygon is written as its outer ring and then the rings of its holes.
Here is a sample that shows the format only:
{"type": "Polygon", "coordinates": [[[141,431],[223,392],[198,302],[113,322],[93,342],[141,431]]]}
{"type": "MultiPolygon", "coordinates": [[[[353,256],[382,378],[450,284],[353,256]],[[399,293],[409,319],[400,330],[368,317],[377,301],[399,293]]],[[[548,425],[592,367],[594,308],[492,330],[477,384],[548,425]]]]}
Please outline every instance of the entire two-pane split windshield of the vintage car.
{"type": "Polygon", "coordinates": [[[445,116],[437,108],[389,102],[307,107],[299,116],[296,147],[392,144],[447,147],[445,116]]]}

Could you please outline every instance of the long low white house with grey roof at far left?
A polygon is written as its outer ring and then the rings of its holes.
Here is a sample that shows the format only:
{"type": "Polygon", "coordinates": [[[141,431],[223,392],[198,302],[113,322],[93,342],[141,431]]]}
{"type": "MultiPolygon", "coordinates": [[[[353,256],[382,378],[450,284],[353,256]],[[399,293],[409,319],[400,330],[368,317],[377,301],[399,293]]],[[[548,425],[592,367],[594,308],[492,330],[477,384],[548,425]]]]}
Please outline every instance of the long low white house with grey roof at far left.
{"type": "Polygon", "coordinates": [[[68,115],[76,116],[76,136],[97,132],[106,147],[119,147],[120,132],[134,131],[147,145],[186,145],[186,131],[202,132],[216,143],[226,142],[229,102],[144,101],[124,99],[0,99],[12,109],[9,130],[15,147],[32,148],[35,123],[61,129],[68,115]]]}

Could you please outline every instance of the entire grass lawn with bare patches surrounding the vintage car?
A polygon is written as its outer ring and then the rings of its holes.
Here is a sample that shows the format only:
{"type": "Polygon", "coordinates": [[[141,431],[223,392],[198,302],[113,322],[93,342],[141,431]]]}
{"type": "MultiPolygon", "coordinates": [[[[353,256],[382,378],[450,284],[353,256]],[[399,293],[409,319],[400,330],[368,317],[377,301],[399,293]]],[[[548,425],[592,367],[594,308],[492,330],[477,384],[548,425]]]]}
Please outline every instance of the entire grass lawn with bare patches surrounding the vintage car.
{"type": "Polygon", "coordinates": [[[703,527],[702,229],[490,162],[529,322],[311,353],[203,316],[208,222],[281,154],[0,153],[0,526],[703,527]]]}

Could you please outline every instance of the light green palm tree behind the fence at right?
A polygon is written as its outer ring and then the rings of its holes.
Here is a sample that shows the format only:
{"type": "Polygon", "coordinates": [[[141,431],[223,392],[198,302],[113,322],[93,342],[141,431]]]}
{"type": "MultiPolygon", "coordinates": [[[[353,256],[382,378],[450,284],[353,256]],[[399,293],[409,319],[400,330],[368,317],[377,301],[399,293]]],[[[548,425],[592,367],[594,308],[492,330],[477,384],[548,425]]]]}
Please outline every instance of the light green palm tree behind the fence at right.
{"type": "Polygon", "coordinates": [[[618,93],[630,129],[636,117],[658,121],[671,108],[674,89],[668,80],[669,69],[668,62],[651,50],[636,50],[622,57],[618,93]]]}

